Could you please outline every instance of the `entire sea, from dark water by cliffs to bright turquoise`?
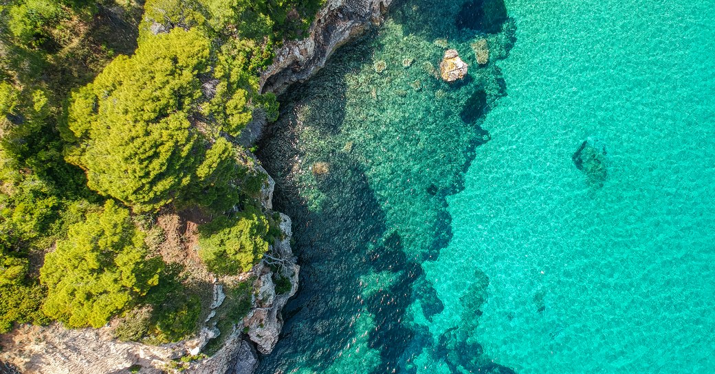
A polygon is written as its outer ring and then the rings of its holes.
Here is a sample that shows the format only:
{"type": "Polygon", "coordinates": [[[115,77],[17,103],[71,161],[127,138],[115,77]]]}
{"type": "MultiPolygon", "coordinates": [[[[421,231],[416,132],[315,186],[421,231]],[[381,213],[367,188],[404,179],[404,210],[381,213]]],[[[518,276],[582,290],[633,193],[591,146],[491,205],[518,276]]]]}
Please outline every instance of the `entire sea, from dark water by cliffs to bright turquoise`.
{"type": "Polygon", "coordinates": [[[399,1],[280,98],[260,373],[715,373],[715,1],[504,7],[399,1]]]}

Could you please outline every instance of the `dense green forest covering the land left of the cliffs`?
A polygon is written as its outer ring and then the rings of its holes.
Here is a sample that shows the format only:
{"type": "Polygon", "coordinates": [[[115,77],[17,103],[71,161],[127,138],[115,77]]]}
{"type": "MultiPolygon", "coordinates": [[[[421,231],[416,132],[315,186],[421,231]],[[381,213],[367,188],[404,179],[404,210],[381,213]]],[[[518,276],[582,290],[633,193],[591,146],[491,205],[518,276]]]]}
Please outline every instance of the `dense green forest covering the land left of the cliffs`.
{"type": "Polygon", "coordinates": [[[202,216],[197,255],[217,274],[249,271],[280,235],[241,133],[275,120],[260,69],[320,3],[0,3],[0,333],[194,331],[199,296],[157,250],[157,217],[202,216]]]}

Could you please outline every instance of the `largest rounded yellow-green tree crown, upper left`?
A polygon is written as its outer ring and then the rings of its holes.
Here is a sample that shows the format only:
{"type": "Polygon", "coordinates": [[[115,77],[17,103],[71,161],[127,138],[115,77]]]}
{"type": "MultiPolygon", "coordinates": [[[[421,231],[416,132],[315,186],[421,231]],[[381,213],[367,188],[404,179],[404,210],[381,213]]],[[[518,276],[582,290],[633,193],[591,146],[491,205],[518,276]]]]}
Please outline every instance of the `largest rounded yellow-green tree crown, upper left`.
{"type": "Polygon", "coordinates": [[[68,124],[77,146],[67,158],[87,171],[90,188],[136,211],[180,197],[205,151],[191,118],[208,58],[201,33],[174,29],[74,93],[68,124]]]}

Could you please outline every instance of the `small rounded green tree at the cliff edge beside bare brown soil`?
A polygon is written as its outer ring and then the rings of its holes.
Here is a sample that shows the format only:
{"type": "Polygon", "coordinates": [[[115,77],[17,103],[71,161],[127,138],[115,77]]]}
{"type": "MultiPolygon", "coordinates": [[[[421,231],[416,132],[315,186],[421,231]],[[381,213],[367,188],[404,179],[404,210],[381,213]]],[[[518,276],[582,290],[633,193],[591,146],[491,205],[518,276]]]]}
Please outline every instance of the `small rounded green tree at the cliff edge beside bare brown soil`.
{"type": "Polygon", "coordinates": [[[255,208],[232,218],[220,216],[199,228],[199,256],[215,273],[250,271],[268,251],[269,229],[267,219],[255,208]]]}

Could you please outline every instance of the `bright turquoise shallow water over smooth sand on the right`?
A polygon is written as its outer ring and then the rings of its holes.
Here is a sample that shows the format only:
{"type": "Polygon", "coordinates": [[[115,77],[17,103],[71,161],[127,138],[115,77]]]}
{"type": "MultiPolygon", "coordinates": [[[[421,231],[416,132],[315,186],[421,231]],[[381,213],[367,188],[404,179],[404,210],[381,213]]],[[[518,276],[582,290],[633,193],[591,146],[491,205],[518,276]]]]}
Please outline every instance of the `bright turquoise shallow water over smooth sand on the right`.
{"type": "Polygon", "coordinates": [[[445,323],[465,283],[445,271],[478,266],[475,337],[519,373],[714,373],[715,2],[508,9],[509,95],[428,266],[445,323]],[[601,188],[571,161],[587,136],[608,149],[601,188]]]}

